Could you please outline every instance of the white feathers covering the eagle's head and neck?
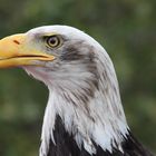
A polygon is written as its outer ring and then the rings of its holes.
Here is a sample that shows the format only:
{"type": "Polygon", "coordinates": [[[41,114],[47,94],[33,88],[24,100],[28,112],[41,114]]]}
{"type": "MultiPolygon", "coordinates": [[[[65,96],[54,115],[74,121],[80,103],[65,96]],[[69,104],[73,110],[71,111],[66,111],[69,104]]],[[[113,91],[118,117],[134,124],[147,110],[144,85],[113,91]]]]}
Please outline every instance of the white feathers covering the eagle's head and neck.
{"type": "MultiPolygon", "coordinates": [[[[81,60],[76,64],[75,61],[53,62],[53,65],[51,62],[51,68],[58,66],[60,68],[50,71],[43,71],[43,68],[39,67],[25,67],[28,74],[43,81],[49,88],[40,156],[47,155],[50,139],[55,143],[53,129],[57,115],[61,117],[66,130],[74,135],[79,148],[84,146],[88,153],[96,153],[94,140],[104,150],[111,153],[113,147],[121,150],[121,142],[128,133],[128,126],[115,69],[108,53],[95,39],[72,27],[40,27],[28,31],[27,35],[33,38],[37,33],[58,33],[67,37],[70,46],[78,51],[85,55],[92,52],[95,64],[89,70],[81,60]],[[86,96],[87,91],[91,91],[91,95],[85,100],[82,96],[86,96]]],[[[68,45],[65,43],[65,47],[68,45]]]]}

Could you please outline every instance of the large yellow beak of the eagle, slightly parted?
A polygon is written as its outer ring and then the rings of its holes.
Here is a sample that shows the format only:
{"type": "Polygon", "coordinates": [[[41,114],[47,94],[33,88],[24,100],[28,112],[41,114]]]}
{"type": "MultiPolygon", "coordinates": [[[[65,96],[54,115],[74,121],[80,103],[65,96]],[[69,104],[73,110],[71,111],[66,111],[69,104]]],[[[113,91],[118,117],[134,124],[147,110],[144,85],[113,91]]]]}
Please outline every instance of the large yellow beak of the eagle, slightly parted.
{"type": "Polygon", "coordinates": [[[36,65],[35,60],[53,60],[51,55],[43,53],[27,46],[26,35],[14,35],[0,40],[0,68],[36,65]]]}

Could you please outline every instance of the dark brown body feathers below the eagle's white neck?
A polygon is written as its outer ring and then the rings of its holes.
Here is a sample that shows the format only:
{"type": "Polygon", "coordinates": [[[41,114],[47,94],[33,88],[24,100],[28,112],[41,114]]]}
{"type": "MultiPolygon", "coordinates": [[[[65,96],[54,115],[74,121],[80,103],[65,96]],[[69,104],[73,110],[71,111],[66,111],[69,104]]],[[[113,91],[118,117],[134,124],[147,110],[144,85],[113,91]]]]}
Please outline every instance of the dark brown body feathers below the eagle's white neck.
{"type": "MultiPolygon", "coordinates": [[[[59,116],[57,116],[55,125],[56,145],[50,142],[48,156],[91,156],[84,148],[79,149],[72,135],[69,135],[59,116]]],[[[92,156],[154,156],[129,131],[127,138],[121,144],[123,153],[113,149],[113,153],[101,149],[95,144],[97,153],[92,156]]]]}

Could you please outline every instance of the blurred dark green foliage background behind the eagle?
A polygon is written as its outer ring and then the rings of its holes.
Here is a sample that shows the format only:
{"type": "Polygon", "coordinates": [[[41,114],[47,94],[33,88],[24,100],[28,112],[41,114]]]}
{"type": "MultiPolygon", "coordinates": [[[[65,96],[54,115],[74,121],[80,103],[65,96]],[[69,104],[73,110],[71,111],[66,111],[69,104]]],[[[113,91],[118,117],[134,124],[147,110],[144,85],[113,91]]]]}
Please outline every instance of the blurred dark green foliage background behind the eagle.
{"type": "MultiPolygon", "coordinates": [[[[0,0],[0,38],[69,25],[97,39],[116,67],[134,134],[156,153],[156,0],[0,0]]],[[[48,98],[21,69],[0,70],[0,156],[37,156],[48,98]]]]}

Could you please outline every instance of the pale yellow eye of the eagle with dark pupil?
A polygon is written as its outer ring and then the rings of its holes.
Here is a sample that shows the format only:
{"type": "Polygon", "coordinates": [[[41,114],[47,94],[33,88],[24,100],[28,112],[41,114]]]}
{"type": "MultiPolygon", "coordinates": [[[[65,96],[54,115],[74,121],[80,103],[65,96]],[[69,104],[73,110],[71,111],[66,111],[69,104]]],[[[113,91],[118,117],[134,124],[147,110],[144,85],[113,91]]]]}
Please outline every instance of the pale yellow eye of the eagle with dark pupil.
{"type": "Polygon", "coordinates": [[[61,39],[58,36],[50,36],[50,37],[47,37],[46,42],[47,42],[48,47],[57,48],[60,46],[61,39]]]}

